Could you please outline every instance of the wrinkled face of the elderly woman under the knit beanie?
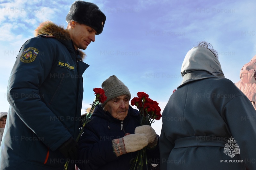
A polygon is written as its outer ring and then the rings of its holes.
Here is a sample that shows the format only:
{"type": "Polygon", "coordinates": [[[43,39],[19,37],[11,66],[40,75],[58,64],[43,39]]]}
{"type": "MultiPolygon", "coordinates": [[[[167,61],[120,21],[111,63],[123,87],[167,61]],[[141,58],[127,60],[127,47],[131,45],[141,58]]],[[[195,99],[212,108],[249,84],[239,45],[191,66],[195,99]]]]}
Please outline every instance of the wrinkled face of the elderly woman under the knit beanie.
{"type": "Polygon", "coordinates": [[[128,114],[129,109],[129,97],[126,95],[118,96],[110,101],[106,105],[106,111],[108,111],[112,117],[124,120],[128,114]]]}

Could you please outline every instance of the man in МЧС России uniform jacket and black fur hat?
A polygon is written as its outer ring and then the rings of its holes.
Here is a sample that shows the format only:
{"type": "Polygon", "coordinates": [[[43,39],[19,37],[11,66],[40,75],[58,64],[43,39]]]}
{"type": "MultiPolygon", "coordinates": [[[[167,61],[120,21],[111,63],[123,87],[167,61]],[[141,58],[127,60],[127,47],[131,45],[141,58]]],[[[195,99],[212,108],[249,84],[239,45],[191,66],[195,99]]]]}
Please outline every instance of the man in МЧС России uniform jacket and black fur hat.
{"type": "Polygon", "coordinates": [[[66,159],[75,163],[82,74],[89,66],[79,49],[95,41],[105,20],[97,5],[76,1],[67,29],[44,22],[21,47],[8,82],[1,169],[62,170],[66,159]]]}

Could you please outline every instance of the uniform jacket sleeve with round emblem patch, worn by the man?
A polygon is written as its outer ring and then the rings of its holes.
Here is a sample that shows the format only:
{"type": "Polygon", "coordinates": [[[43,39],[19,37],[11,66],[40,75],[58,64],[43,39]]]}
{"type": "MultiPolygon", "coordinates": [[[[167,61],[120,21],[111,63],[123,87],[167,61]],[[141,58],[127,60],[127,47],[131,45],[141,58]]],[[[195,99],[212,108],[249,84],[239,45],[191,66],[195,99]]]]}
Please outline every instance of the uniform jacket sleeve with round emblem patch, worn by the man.
{"type": "Polygon", "coordinates": [[[20,49],[7,88],[10,107],[31,131],[38,137],[43,137],[42,142],[52,151],[71,137],[42,101],[43,96],[40,96],[39,91],[39,87],[49,76],[56,55],[54,46],[46,39],[29,39],[20,49]],[[31,59],[24,60],[25,55],[31,59]]]}

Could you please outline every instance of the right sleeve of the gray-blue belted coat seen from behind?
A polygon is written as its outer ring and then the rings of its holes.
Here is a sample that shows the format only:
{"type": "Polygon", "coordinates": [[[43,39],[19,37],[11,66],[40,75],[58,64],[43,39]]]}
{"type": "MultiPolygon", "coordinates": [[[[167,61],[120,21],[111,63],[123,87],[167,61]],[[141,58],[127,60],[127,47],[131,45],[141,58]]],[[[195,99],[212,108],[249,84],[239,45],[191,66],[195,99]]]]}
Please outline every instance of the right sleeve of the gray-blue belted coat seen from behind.
{"type": "Polygon", "coordinates": [[[236,96],[225,105],[224,114],[246,169],[256,169],[256,111],[251,102],[246,96],[236,96]]]}

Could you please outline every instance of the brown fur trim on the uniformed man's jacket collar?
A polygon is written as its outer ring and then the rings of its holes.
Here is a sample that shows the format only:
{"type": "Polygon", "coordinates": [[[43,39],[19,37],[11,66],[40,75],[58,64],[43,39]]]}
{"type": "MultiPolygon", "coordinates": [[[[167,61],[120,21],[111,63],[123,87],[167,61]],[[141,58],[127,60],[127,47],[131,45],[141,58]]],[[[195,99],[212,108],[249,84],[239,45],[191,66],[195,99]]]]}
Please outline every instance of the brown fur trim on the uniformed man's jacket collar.
{"type": "MultiPolygon", "coordinates": [[[[52,21],[45,21],[41,23],[35,30],[35,36],[45,35],[47,37],[56,38],[60,41],[68,41],[71,40],[69,32],[62,25],[56,25],[52,21]]],[[[79,55],[82,59],[85,59],[86,54],[79,50],[79,55]]]]}

